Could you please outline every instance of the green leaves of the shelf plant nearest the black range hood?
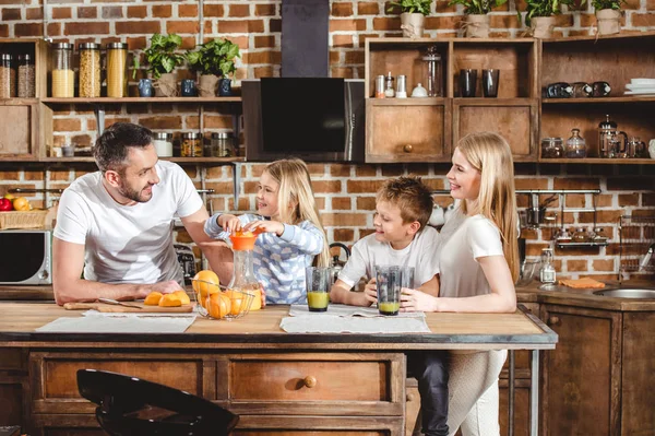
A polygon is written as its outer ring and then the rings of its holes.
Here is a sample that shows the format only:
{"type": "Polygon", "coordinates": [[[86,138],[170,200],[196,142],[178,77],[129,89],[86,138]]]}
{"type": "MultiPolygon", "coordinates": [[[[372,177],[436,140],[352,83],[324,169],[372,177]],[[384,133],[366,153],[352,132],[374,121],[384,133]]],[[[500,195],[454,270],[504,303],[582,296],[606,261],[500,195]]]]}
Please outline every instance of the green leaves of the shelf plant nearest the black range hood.
{"type": "Polygon", "coordinates": [[[227,78],[237,71],[235,59],[241,54],[239,46],[231,40],[215,38],[200,45],[195,51],[187,51],[186,57],[192,70],[227,78]]]}

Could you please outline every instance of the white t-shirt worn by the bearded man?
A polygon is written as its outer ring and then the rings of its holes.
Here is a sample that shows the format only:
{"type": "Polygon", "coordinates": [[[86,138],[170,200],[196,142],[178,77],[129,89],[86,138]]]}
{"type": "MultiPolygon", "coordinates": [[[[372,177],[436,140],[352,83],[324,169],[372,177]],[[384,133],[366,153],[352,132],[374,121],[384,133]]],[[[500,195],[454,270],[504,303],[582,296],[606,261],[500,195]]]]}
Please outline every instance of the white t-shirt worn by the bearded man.
{"type": "Polygon", "coordinates": [[[174,215],[189,216],[203,202],[179,165],[159,161],[155,168],[159,182],[153,186],[153,197],[145,203],[117,203],[103,186],[102,172],[78,178],[63,191],[53,235],[84,245],[85,279],[103,283],[183,283],[172,247],[174,215]]]}

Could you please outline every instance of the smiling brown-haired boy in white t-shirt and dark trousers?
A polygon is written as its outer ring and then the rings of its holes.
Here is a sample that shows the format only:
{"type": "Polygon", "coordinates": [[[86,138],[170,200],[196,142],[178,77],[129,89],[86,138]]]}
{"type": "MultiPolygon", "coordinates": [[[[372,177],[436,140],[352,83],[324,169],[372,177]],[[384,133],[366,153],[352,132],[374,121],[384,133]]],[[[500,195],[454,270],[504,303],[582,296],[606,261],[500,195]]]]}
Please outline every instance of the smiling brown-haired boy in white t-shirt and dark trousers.
{"type": "MultiPolygon", "coordinates": [[[[414,267],[414,288],[439,295],[439,234],[427,227],[432,213],[430,189],[419,177],[388,180],[376,197],[376,233],[353,246],[348,262],[330,291],[332,303],[370,306],[378,301],[376,266],[414,267]],[[350,292],[366,276],[365,291],[350,292]]],[[[418,379],[422,432],[448,435],[448,368],[444,352],[413,353],[408,373],[418,379]]]]}

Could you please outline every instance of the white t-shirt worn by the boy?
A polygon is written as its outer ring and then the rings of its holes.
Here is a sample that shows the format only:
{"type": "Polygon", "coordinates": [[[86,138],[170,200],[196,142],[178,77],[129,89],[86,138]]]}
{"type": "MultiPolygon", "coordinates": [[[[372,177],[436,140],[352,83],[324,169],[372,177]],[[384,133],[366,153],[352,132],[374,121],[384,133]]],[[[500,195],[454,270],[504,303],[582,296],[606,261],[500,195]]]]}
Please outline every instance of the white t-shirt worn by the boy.
{"type": "Polygon", "coordinates": [[[376,276],[376,266],[414,267],[414,288],[420,287],[439,273],[437,249],[439,233],[426,226],[402,250],[376,239],[376,234],[365,236],[353,246],[352,255],[338,279],[353,287],[362,276],[376,276]]]}

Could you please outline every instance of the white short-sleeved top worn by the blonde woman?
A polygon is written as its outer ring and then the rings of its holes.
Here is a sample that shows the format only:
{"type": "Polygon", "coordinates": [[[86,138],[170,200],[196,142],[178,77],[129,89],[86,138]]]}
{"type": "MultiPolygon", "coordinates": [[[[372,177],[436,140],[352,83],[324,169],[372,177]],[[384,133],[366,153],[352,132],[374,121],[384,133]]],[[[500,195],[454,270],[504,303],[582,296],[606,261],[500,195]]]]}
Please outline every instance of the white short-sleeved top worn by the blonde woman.
{"type": "Polygon", "coordinates": [[[441,228],[439,296],[469,297],[491,292],[477,259],[504,256],[500,231],[484,215],[466,216],[458,209],[441,228]]]}

